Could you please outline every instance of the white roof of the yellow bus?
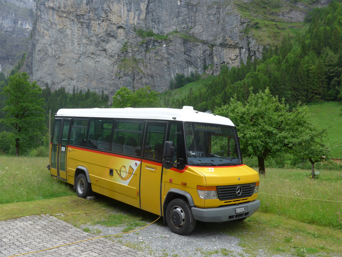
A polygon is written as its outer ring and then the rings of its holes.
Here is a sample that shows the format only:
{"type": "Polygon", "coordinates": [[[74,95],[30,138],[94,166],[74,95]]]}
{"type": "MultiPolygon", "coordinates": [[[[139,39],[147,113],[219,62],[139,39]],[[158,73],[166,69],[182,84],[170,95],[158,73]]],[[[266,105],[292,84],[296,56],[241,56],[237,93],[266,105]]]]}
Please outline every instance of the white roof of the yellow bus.
{"type": "Polygon", "coordinates": [[[192,106],[183,109],[172,108],[93,108],[93,109],[60,109],[58,117],[87,117],[87,118],[125,118],[142,120],[176,120],[186,122],[213,123],[235,126],[228,118],[199,112],[192,106]]]}

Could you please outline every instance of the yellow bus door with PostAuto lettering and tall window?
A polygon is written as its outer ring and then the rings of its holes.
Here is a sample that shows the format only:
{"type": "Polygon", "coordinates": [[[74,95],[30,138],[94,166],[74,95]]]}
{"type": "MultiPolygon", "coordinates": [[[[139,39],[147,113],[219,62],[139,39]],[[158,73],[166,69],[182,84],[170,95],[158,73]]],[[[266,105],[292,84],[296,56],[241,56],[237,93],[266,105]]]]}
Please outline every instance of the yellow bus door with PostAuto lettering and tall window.
{"type": "Polygon", "coordinates": [[[140,172],[140,208],[161,215],[163,146],[168,122],[146,122],[140,172]]]}

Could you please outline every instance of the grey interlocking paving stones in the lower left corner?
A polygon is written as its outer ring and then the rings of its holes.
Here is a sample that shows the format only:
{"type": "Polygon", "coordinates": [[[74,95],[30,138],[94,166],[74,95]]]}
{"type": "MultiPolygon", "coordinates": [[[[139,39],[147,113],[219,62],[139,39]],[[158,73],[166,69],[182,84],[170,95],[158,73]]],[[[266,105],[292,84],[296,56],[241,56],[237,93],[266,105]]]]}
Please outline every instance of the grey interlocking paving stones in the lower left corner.
{"type": "Polygon", "coordinates": [[[153,257],[104,237],[91,239],[94,237],[97,236],[49,215],[0,221],[0,257],[153,257]]]}

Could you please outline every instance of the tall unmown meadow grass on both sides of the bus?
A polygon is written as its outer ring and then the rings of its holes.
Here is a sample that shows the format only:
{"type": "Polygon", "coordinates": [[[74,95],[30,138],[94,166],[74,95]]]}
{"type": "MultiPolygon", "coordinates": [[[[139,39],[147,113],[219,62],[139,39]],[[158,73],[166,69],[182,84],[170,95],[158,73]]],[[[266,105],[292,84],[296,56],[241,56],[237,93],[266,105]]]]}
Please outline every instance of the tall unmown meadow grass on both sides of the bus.
{"type": "MultiPolygon", "coordinates": [[[[51,178],[47,158],[0,158],[0,203],[75,195],[73,186],[51,178]]],[[[312,180],[308,171],[267,169],[260,178],[260,211],[304,223],[342,229],[342,171],[324,170],[312,180]]]]}

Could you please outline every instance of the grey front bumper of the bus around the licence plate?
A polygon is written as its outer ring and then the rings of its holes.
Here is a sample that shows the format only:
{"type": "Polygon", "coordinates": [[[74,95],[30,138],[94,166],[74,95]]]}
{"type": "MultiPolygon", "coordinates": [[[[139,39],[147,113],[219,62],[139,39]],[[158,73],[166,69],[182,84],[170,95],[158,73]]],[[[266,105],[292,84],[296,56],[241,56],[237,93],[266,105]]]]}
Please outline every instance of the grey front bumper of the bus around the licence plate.
{"type": "Polygon", "coordinates": [[[239,205],[218,207],[218,208],[197,208],[192,207],[192,213],[196,220],[205,221],[205,222],[223,222],[229,220],[237,220],[241,218],[245,218],[251,216],[254,212],[256,212],[260,208],[260,201],[254,200],[249,203],[241,203],[239,205]],[[245,207],[245,211],[241,213],[235,213],[235,210],[238,208],[245,207]]]}

